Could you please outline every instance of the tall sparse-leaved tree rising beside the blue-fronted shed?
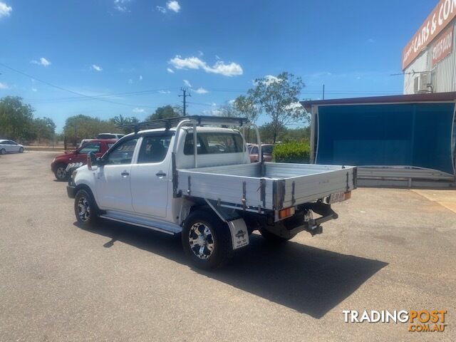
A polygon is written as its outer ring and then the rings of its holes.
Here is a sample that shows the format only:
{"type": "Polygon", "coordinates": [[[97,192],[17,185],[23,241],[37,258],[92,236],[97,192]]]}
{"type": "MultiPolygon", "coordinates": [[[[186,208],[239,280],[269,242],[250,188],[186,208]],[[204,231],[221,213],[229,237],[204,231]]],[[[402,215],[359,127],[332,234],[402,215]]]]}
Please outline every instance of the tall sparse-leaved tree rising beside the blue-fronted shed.
{"type": "Polygon", "coordinates": [[[284,72],[277,77],[258,78],[255,80],[255,87],[248,91],[254,103],[271,118],[269,128],[272,130],[274,143],[286,125],[309,121],[309,115],[298,98],[304,86],[300,77],[284,72]]]}

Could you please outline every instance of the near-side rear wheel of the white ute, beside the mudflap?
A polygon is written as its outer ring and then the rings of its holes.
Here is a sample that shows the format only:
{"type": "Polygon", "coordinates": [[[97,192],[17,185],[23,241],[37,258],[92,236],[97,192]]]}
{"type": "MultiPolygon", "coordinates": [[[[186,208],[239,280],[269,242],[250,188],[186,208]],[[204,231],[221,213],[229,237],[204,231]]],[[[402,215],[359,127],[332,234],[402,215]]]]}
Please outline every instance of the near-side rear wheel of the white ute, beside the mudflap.
{"type": "Polygon", "coordinates": [[[217,269],[232,255],[229,228],[215,214],[204,210],[192,212],[182,228],[185,254],[199,269],[217,269]]]}

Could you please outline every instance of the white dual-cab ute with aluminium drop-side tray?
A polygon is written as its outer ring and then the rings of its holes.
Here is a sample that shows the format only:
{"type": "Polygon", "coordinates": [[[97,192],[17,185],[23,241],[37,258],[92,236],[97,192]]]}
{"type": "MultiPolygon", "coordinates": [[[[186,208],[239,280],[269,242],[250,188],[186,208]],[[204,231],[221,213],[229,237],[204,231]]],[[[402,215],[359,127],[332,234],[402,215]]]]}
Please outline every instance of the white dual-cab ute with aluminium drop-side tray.
{"type": "Polygon", "coordinates": [[[68,182],[80,224],[99,217],[167,234],[202,269],[224,264],[259,230],[280,243],[336,219],[331,203],[350,198],[356,167],[250,163],[244,118],[187,116],[132,126],[103,157],[88,155],[68,182]],[[145,129],[147,128],[147,129],[145,129]],[[314,213],[317,214],[314,217],[314,213]]]}

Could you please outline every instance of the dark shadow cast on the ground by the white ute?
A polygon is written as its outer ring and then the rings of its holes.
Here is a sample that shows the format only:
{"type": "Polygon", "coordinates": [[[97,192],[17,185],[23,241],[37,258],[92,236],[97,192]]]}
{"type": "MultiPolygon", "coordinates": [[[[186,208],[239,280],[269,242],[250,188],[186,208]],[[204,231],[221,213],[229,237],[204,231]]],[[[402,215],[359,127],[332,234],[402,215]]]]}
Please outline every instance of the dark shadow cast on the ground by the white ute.
{"type": "MultiPolygon", "coordinates": [[[[123,242],[190,265],[182,251],[180,238],[115,222],[100,222],[95,229],[86,230],[110,237],[104,248],[123,242]]],[[[271,247],[260,236],[252,234],[249,247],[239,250],[222,269],[213,272],[194,270],[321,318],[386,265],[383,261],[329,252],[296,242],[271,247]]]]}

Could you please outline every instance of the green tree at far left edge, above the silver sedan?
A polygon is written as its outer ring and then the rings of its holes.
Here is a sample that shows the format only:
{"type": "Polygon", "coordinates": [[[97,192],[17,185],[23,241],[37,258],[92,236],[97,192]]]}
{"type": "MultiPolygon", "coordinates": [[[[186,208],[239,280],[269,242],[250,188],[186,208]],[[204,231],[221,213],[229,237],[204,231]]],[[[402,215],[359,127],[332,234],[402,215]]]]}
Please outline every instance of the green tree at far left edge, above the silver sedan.
{"type": "Polygon", "coordinates": [[[6,96],[0,100],[0,137],[30,141],[33,133],[33,108],[18,96],[6,96]]]}

